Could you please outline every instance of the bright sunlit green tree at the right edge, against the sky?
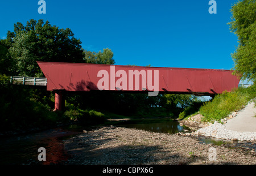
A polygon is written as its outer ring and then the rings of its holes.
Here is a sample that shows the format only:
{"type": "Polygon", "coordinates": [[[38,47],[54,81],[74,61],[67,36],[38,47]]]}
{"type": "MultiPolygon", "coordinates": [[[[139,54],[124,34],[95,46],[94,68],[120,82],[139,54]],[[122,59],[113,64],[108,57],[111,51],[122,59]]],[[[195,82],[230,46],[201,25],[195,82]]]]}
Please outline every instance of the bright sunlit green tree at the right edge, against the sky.
{"type": "Polygon", "coordinates": [[[232,9],[230,30],[238,37],[238,47],[232,54],[234,73],[255,83],[256,79],[256,5],[255,0],[237,2],[232,9]]]}

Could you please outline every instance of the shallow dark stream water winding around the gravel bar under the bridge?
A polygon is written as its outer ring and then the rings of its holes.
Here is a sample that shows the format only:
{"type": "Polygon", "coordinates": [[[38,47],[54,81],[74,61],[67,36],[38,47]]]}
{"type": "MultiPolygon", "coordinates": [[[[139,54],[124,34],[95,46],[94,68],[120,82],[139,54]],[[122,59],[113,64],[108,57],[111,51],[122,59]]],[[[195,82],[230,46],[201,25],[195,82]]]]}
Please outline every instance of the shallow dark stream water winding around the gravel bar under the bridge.
{"type": "MultiPolygon", "coordinates": [[[[166,132],[176,134],[186,127],[181,127],[177,121],[170,119],[141,119],[136,121],[121,122],[118,127],[137,128],[141,130],[166,132]]],[[[71,125],[68,127],[58,127],[51,130],[45,130],[27,135],[16,135],[0,139],[0,164],[61,164],[67,161],[69,156],[65,151],[64,141],[72,136],[81,134],[83,130],[89,131],[100,126],[86,127],[71,125]],[[46,161],[39,161],[38,149],[46,148],[46,161]]],[[[222,145],[232,143],[232,141],[216,140],[209,138],[199,138],[199,143],[222,145]]],[[[233,147],[249,147],[256,149],[255,144],[236,143],[233,147]]]]}

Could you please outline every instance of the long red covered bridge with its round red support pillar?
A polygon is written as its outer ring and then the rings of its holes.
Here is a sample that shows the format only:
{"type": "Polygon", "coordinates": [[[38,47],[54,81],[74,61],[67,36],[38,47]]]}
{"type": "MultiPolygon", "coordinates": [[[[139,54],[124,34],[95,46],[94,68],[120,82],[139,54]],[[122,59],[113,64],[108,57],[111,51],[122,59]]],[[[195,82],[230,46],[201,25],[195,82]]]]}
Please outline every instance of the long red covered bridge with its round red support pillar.
{"type": "Polygon", "coordinates": [[[55,91],[55,110],[61,110],[63,91],[122,91],[183,93],[212,96],[237,88],[240,79],[230,70],[38,62],[55,91]]]}

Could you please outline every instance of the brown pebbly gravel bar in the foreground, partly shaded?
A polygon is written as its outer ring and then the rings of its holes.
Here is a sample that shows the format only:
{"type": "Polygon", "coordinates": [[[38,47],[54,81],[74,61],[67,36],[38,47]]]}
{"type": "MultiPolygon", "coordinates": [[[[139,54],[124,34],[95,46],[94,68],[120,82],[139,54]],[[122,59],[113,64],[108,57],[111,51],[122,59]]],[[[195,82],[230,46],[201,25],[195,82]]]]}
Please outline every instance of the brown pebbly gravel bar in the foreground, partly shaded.
{"type": "Polygon", "coordinates": [[[101,127],[65,141],[64,164],[256,164],[254,151],[201,144],[197,139],[133,128],[101,127]],[[209,159],[210,148],[216,160],[209,159]]]}

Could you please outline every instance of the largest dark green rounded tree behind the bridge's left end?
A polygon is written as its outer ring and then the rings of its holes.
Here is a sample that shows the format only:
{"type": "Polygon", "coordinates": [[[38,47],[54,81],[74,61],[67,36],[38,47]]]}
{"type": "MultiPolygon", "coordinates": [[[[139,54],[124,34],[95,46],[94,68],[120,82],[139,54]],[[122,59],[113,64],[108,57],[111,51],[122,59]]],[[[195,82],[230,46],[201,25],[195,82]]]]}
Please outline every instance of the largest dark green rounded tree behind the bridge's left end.
{"type": "Polygon", "coordinates": [[[84,62],[81,41],[71,29],[59,29],[48,21],[31,19],[26,26],[18,22],[14,32],[7,32],[7,41],[16,75],[43,76],[36,61],[84,62]]]}

